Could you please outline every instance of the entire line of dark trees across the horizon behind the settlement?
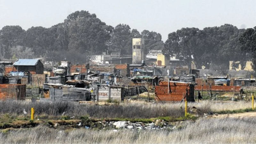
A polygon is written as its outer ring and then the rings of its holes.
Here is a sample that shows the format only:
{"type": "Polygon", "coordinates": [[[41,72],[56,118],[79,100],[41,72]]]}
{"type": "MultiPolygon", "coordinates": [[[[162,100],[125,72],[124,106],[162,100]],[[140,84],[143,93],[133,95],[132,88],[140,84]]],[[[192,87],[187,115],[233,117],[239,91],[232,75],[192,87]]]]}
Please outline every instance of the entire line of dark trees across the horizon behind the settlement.
{"type": "Polygon", "coordinates": [[[88,11],[76,11],[64,22],[51,28],[5,26],[0,30],[0,56],[6,59],[38,58],[59,61],[67,58],[86,63],[92,54],[119,51],[132,55],[132,38],[144,38],[145,50],[163,50],[177,56],[189,67],[227,69],[229,61],[256,62],[256,27],[238,29],[224,24],[220,27],[181,28],[168,35],[164,43],[161,34],[131,29],[127,24],[112,27],[88,11]]]}

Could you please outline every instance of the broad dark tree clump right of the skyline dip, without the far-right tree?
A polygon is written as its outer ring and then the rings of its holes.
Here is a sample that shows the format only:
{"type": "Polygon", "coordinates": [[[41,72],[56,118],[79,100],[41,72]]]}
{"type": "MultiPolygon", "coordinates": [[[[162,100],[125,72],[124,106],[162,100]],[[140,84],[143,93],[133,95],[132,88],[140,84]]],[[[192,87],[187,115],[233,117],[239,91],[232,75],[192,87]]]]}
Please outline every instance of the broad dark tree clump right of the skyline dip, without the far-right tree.
{"type": "Polygon", "coordinates": [[[195,61],[198,68],[219,66],[219,69],[227,69],[230,60],[241,63],[247,60],[238,42],[243,31],[230,24],[203,30],[181,28],[168,35],[163,52],[180,57],[188,66],[195,61]]]}

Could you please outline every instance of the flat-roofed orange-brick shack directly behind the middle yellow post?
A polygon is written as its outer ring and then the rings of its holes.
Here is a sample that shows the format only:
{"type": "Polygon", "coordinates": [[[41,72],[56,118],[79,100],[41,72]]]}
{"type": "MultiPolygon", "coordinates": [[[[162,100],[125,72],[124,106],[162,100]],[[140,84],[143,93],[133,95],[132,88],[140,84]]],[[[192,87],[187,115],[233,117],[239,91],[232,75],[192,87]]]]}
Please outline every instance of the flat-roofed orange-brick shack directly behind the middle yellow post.
{"type": "Polygon", "coordinates": [[[176,81],[160,81],[159,86],[155,86],[155,94],[157,101],[195,101],[194,99],[194,83],[176,82],[176,81]],[[168,88],[169,86],[169,88],[168,88]]]}

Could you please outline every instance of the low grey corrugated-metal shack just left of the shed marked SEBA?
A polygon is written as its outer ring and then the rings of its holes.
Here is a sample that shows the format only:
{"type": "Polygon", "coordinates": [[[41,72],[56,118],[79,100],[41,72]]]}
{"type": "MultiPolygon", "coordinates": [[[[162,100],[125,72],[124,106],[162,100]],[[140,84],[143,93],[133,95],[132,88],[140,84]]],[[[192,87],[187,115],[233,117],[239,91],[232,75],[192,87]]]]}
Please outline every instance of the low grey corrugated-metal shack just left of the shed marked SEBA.
{"type": "Polygon", "coordinates": [[[91,92],[86,88],[77,88],[63,84],[44,84],[44,97],[40,101],[79,101],[90,100],[91,92]]]}

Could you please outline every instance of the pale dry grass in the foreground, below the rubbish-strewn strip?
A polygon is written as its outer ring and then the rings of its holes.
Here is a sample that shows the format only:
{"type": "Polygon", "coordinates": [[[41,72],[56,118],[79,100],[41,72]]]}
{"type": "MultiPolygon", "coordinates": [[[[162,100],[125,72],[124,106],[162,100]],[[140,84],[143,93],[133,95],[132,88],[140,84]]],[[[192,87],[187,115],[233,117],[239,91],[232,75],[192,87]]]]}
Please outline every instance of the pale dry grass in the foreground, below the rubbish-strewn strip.
{"type": "Polygon", "coordinates": [[[199,119],[173,130],[60,130],[46,126],[1,132],[1,143],[255,143],[255,118],[199,119]]]}

